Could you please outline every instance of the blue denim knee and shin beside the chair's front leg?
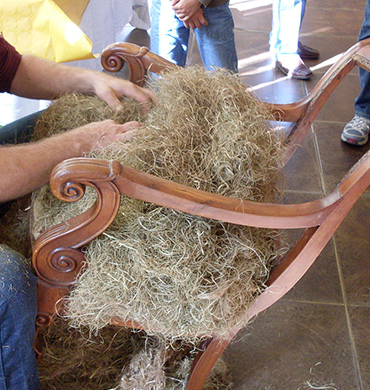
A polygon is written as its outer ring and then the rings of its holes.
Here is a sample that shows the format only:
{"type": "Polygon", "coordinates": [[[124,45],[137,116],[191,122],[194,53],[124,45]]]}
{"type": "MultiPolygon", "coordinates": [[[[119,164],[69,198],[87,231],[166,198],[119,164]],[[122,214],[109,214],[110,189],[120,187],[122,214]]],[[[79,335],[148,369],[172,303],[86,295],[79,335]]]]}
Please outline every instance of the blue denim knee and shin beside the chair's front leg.
{"type": "Polygon", "coordinates": [[[33,351],[36,277],[24,258],[0,245],[0,390],[38,390],[33,351]]]}

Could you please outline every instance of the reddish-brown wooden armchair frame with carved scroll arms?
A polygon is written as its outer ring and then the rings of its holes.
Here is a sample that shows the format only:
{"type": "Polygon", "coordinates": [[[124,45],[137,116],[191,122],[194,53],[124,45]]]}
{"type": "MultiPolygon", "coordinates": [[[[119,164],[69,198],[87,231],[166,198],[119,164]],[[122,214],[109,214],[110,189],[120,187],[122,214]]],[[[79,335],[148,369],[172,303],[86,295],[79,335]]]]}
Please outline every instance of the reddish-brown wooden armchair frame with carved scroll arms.
{"type": "MultiPolygon", "coordinates": [[[[115,44],[103,53],[102,64],[118,71],[124,63],[131,80],[142,85],[148,70],[165,71],[174,65],[133,44],[115,44]]],[[[370,40],[348,50],[324,75],[304,99],[287,105],[269,105],[278,120],[294,122],[286,138],[290,146],[286,161],[300,144],[310,125],[339,82],[356,65],[370,69],[370,40]]],[[[121,194],[186,213],[234,224],[269,229],[304,229],[301,238],[270,273],[268,288],[245,313],[245,323],[268,308],[305,274],[360,195],[370,185],[370,152],[347,173],[327,196],[301,204],[270,204],[241,201],[188,188],[152,175],[122,166],[116,161],[70,159],[59,164],[51,177],[56,197],[67,202],[78,201],[85,186],[97,193],[95,204],[85,213],[43,233],[33,244],[33,265],[38,275],[37,326],[52,322],[55,305],[60,304],[75,283],[84,255],[84,244],[102,233],[115,218],[121,194]]],[[[140,324],[115,324],[141,328],[140,324]]],[[[213,365],[237,334],[232,329],[225,339],[210,338],[194,361],[187,388],[201,389],[213,365]]]]}

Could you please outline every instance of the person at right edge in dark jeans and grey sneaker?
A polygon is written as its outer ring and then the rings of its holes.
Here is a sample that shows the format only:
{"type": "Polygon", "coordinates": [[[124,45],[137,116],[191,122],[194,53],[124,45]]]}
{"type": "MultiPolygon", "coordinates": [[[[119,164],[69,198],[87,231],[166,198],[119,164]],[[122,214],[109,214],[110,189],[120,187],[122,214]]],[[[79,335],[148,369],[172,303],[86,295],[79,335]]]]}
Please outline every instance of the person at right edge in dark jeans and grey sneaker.
{"type": "MultiPolygon", "coordinates": [[[[358,41],[370,38],[370,1],[366,1],[364,20],[358,41]]],[[[362,146],[369,140],[370,132],[370,73],[360,68],[361,92],[355,99],[355,116],[343,129],[341,139],[348,144],[362,146]]]]}

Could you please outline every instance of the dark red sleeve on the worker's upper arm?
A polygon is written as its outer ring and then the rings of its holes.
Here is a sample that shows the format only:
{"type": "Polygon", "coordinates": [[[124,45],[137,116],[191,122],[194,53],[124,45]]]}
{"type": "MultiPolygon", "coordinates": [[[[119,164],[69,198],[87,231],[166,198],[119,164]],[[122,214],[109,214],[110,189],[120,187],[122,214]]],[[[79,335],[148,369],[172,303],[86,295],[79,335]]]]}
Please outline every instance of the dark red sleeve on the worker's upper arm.
{"type": "Polygon", "coordinates": [[[9,92],[22,56],[0,35],[0,92],[9,92]]]}

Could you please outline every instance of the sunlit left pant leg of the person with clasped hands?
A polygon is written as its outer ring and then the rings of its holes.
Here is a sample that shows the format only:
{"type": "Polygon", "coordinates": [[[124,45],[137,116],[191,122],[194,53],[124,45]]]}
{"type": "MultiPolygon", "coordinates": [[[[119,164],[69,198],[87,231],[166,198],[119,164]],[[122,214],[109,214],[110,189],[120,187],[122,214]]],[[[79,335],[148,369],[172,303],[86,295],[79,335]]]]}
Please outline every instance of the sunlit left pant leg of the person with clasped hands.
{"type": "Polygon", "coordinates": [[[185,66],[190,31],[176,17],[170,0],[152,0],[150,50],[185,66]]]}

